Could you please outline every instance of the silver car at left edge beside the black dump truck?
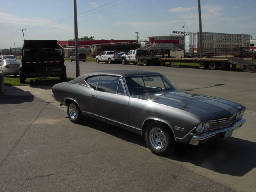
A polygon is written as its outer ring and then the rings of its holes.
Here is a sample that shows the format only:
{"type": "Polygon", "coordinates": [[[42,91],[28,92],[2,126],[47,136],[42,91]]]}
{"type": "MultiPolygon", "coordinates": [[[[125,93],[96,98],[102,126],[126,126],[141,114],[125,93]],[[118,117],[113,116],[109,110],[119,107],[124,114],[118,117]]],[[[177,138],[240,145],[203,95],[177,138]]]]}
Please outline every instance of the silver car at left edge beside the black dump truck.
{"type": "Polygon", "coordinates": [[[5,75],[14,75],[16,77],[20,71],[20,64],[21,62],[19,60],[2,60],[0,62],[0,72],[5,73],[5,75]]]}

